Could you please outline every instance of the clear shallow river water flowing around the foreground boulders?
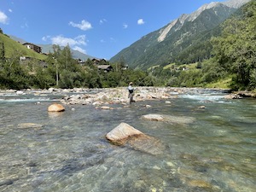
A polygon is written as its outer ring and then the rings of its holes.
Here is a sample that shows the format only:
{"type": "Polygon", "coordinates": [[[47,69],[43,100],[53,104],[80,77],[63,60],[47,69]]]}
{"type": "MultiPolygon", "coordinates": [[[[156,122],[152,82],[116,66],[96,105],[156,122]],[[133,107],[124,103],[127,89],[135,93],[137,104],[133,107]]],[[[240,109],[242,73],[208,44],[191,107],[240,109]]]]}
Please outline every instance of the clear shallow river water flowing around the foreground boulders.
{"type": "Polygon", "coordinates": [[[0,191],[256,189],[255,100],[224,100],[218,91],[202,91],[179,95],[171,103],[136,102],[113,110],[66,106],[64,113],[48,113],[56,99],[0,97],[0,191]],[[206,108],[198,108],[202,105],[206,108]],[[148,113],[195,121],[184,125],[141,119],[148,113]],[[160,139],[163,153],[108,143],[105,135],[121,122],[160,139]],[[36,125],[22,126],[26,123],[36,125]]]}

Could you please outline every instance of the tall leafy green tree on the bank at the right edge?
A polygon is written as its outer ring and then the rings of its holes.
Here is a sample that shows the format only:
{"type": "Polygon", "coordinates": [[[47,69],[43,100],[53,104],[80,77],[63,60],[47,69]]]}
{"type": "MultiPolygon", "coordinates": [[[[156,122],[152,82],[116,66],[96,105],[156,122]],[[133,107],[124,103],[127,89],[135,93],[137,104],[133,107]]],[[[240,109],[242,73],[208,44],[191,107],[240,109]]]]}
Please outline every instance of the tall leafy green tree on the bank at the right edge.
{"type": "Polygon", "coordinates": [[[255,88],[256,2],[247,3],[241,11],[224,22],[221,37],[212,39],[215,58],[220,67],[234,74],[232,86],[236,90],[255,88]]]}

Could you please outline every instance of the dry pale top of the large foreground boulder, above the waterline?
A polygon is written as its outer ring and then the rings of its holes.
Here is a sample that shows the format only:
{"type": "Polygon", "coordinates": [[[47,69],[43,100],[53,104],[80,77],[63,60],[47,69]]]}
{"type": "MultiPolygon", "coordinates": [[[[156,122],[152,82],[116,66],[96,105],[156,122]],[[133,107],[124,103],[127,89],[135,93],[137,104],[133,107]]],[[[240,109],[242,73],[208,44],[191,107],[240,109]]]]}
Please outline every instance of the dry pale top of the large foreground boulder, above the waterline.
{"type": "Polygon", "coordinates": [[[113,143],[123,143],[128,137],[143,135],[143,132],[138,131],[131,125],[120,123],[112,131],[106,135],[107,139],[113,143]]]}

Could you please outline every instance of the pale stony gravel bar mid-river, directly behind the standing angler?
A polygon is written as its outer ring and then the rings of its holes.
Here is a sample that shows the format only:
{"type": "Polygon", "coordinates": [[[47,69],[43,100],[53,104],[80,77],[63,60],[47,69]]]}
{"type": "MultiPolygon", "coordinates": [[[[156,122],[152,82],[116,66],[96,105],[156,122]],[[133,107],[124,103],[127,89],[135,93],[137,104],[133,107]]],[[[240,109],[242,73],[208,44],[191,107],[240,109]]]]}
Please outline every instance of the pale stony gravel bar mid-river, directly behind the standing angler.
{"type": "MultiPolygon", "coordinates": [[[[137,102],[147,100],[166,100],[170,98],[177,98],[178,94],[185,94],[189,92],[198,92],[198,88],[171,88],[171,87],[137,87],[134,94],[134,100],[137,102]]],[[[85,93],[65,96],[61,103],[65,105],[102,105],[102,104],[126,104],[128,100],[128,90],[125,87],[108,88],[96,90],[96,93],[85,93]]]]}

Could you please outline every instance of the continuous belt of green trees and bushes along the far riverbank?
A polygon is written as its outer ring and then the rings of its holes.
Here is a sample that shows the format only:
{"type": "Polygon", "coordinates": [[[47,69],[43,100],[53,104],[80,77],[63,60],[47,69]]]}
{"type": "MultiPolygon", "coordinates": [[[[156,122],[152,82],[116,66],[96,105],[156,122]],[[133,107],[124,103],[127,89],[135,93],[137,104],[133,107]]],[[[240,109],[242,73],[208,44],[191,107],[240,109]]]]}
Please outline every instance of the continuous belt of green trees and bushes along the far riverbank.
{"type": "MultiPolygon", "coordinates": [[[[22,52],[9,51],[1,30],[0,88],[25,89],[49,87],[105,88],[126,86],[216,87],[234,90],[256,88],[256,2],[242,7],[221,26],[221,36],[211,39],[212,57],[192,64],[177,63],[150,67],[143,71],[125,68],[120,60],[110,65],[113,70],[99,70],[88,59],[83,64],[73,59],[69,46],[61,49],[54,45],[53,53],[44,55],[44,61],[31,59],[20,62],[22,52]],[[4,38],[4,39],[3,39],[4,38]],[[4,43],[3,43],[4,42],[4,43]],[[7,54],[8,53],[8,54],[7,54]]],[[[194,50],[196,54],[196,50],[194,50]]],[[[193,54],[193,53],[190,53],[193,54]]]]}

